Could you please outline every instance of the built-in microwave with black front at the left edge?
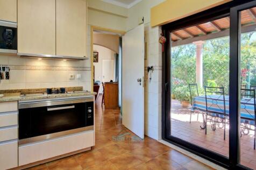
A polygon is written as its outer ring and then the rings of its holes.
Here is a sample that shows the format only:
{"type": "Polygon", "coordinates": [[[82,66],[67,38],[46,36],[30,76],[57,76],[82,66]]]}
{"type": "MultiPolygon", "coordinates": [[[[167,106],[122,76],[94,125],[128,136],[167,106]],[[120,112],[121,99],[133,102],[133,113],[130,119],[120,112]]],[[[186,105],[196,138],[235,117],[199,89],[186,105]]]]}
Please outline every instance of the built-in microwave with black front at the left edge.
{"type": "Polygon", "coordinates": [[[0,20],[0,53],[17,53],[17,23],[0,20]]]}

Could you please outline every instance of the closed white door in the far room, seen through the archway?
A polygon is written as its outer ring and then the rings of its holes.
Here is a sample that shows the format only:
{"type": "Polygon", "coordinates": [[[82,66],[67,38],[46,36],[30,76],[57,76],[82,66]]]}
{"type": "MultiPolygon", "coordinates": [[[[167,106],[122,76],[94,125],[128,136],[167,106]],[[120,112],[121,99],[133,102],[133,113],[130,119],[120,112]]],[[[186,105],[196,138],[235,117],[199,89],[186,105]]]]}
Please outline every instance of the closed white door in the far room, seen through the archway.
{"type": "Polygon", "coordinates": [[[114,61],[102,60],[102,82],[114,80],[114,61]]]}

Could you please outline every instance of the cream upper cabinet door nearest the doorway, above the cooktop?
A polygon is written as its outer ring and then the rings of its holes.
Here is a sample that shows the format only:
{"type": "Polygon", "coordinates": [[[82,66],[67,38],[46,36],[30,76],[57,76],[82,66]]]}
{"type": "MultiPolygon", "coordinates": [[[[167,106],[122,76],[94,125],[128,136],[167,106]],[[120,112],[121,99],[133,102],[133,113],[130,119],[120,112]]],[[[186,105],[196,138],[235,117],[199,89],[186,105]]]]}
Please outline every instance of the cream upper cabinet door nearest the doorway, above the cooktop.
{"type": "Polygon", "coordinates": [[[86,56],[86,1],[56,0],[56,55],[86,56]]]}

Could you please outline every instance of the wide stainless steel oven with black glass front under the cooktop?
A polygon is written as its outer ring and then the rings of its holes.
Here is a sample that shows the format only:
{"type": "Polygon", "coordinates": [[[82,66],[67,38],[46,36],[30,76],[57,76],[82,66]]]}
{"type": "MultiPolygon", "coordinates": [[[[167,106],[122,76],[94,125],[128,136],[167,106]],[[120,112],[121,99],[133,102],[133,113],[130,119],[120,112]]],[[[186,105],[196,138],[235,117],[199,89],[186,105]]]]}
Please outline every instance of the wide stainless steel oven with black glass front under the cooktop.
{"type": "Polygon", "coordinates": [[[19,145],[94,129],[94,99],[20,102],[19,145]]]}

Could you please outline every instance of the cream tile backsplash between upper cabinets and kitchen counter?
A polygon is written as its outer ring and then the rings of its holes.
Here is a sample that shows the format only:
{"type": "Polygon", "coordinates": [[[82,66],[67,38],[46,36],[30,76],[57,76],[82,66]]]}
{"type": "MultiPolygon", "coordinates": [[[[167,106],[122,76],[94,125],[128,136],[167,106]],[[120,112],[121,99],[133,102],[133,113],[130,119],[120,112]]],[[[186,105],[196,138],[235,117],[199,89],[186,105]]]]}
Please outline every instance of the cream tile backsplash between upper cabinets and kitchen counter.
{"type": "MultiPolygon", "coordinates": [[[[48,88],[48,87],[72,87],[83,86],[86,90],[91,90],[91,71],[73,71],[90,65],[89,60],[85,61],[62,61],[62,60],[42,60],[34,58],[20,58],[19,56],[0,55],[0,65],[27,66],[27,68],[16,67],[23,70],[10,70],[10,79],[1,80],[0,90],[21,89],[21,88],[48,88]],[[32,66],[32,67],[31,67],[32,66]],[[40,66],[40,67],[38,67],[40,66]],[[68,67],[71,70],[54,69],[58,67],[68,67]],[[26,70],[27,69],[27,70],[26,70]],[[75,79],[68,78],[69,73],[75,75],[75,79]],[[76,75],[81,74],[81,79],[76,75]],[[83,82],[83,83],[81,83],[83,82]]],[[[90,70],[90,68],[88,68],[90,70]]]]}

